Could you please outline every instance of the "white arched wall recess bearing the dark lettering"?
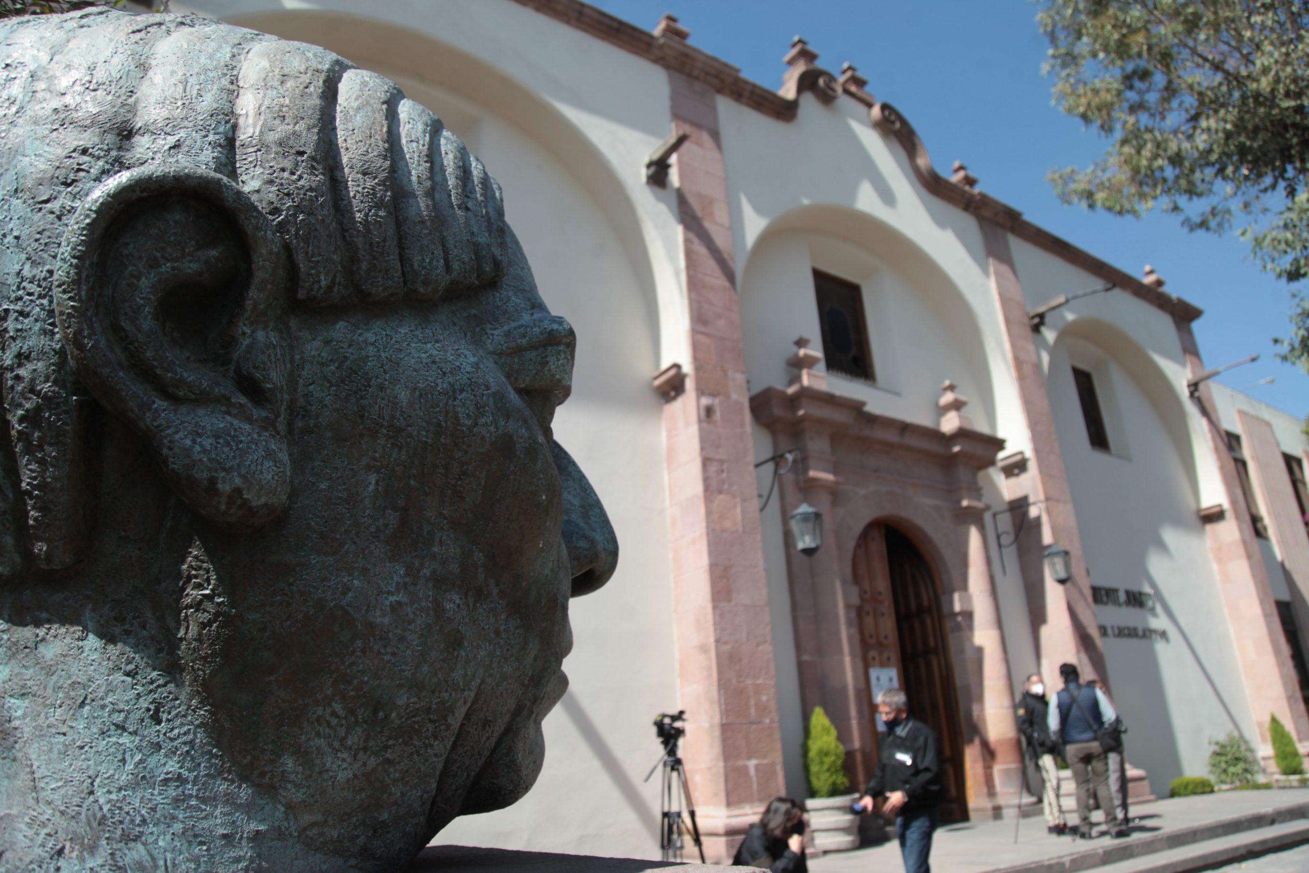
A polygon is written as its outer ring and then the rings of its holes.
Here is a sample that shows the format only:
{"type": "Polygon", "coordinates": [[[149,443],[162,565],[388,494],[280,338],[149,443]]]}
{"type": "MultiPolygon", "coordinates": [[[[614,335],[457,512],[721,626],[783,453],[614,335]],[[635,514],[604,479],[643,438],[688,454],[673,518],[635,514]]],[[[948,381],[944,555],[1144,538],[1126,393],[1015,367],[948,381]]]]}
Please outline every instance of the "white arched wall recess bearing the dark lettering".
{"type": "MultiPolygon", "coordinates": [[[[1076,322],[1072,322],[1073,325],[1076,322]]],[[[1128,759],[1156,793],[1207,772],[1208,741],[1257,737],[1217,588],[1191,472],[1136,373],[1083,336],[1056,339],[1047,386],[1092,585],[1148,592],[1155,609],[1097,606],[1105,660],[1131,732],[1128,759]],[[1111,453],[1092,449],[1072,366],[1096,381],[1111,453]],[[1168,641],[1118,637],[1117,626],[1166,631],[1168,641]]]]}

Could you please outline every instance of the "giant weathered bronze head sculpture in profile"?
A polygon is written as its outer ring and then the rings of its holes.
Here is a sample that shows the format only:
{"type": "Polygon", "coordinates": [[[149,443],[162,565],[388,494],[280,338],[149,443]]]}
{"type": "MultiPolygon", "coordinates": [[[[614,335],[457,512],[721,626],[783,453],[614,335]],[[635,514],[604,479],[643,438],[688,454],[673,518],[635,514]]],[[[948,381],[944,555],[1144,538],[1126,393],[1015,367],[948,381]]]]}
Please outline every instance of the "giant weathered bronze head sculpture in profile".
{"type": "Polygon", "coordinates": [[[512,804],[613,573],[573,334],[381,76],[0,24],[0,852],[384,870],[512,804]]]}

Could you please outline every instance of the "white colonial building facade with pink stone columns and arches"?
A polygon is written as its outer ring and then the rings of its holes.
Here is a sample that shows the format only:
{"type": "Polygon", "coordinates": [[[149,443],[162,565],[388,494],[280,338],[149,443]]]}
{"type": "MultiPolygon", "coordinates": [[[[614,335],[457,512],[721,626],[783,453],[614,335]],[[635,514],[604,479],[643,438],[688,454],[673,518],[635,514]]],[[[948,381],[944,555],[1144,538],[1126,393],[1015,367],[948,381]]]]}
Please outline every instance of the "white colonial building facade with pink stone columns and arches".
{"type": "Polygon", "coordinates": [[[179,7],[325,46],[435,110],[577,331],[555,432],[619,571],[573,606],[535,789],[440,842],[656,853],[651,722],[686,709],[724,857],[770,798],[808,794],[814,707],[867,777],[886,682],[941,733],[949,813],[1011,815],[1014,696],[1066,661],[1128,721],[1138,796],[1204,772],[1229,730],[1271,757],[1272,716],[1309,750],[1300,423],[1204,378],[1202,313],[1160,275],[941,175],[853,67],[797,41],[772,90],[672,17],[579,0],[179,7]],[[802,504],[813,555],[787,524],[802,504]]]}

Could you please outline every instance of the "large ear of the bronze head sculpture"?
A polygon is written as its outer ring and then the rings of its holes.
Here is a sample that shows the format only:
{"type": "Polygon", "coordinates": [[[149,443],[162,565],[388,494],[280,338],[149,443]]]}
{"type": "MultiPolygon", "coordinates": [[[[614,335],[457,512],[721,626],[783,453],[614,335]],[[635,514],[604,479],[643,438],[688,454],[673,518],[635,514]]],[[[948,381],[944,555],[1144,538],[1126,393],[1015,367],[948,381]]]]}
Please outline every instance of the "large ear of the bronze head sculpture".
{"type": "Polygon", "coordinates": [[[224,527],[268,521],[289,490],[287,272],[259,208],[196,168],[99,185],[59,253],[55,313],[79,380],[224,527]]]}

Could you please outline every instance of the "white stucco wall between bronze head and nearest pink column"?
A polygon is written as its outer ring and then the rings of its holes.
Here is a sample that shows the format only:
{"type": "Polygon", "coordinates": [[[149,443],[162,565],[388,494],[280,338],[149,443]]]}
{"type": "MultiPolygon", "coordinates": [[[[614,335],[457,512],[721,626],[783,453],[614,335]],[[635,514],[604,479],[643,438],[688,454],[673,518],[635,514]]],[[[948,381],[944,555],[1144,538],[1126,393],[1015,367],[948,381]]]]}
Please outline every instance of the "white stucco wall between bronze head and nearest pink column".
{"type": "Polygon", "coordinates": [[[571,687],[545,722],[535,788],[437,842],[657,857],[660,784],[641,779],[678,679],[662,402],[649,380],[686,360],[686,330],[675,200],[645,185],[637,158],[670,127],[666,72],[505,0],[395,0],[368,20],[314,10],[357,8],[344,1],[191,5],[391,77],[501,183],[543,298],[577,332],[555,435],[605,503],[620,559],[606,588],[572,603],[571,687]]]}

